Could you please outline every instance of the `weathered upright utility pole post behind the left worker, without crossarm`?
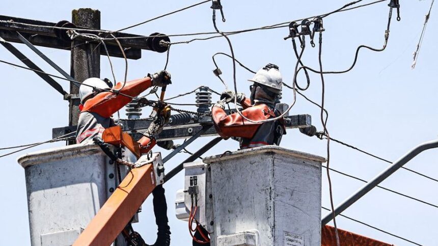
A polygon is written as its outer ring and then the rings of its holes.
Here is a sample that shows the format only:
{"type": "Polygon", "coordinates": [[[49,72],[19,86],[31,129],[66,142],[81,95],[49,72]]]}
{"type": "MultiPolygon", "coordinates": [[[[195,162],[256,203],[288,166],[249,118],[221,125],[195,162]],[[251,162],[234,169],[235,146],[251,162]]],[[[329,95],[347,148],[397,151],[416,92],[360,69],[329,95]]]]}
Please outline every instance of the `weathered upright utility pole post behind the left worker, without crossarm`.
{"type": "MultiPolygon", "coordinates": [[[[100,11],[93,9],[75,9],[71,12],[72,23],[84,28],[100,29],[100,11]]],[[[70,75],[83,82],[90,77],[100,77],[100,45],[99,43],[84,43],[84,40],[71,42],[70,75]]],[[[116,81],[114,81],[116,82],[116,81]]],[[[70,82],[70,97],[68,105],[68,125],[77,125],[79,119],[79,88],[70,82]]],[[[69,145],[75,141],[69,141],[69,145]]]]}

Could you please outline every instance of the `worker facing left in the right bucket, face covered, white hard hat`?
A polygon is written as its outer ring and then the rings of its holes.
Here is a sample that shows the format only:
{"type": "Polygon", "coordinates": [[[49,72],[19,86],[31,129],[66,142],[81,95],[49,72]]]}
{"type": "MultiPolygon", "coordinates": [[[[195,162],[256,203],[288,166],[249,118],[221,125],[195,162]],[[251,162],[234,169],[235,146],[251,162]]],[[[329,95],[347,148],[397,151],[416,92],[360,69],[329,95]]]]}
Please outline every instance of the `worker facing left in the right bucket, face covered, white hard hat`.
{"type": "Polygon", "coordinates": [[[276,121],[266,121],[280,114],[275,108],[276,101],[282,90],[282,76],[276,65],[268,64],[257,71],[250,86],[251,96],[243,93],[234,95],[225,91],[221,101],[213,105],[212,117],[217,133],[224,139],[240,138],[240,149],[254,148],[264,145],[279,145],[282,135],[286,134],[283,118],[276,121]],[[250,119],[244,119],[238,112],[227,115],[225,103],[234,102],[234,98],[243,107],[241,114],[250,119]]]}

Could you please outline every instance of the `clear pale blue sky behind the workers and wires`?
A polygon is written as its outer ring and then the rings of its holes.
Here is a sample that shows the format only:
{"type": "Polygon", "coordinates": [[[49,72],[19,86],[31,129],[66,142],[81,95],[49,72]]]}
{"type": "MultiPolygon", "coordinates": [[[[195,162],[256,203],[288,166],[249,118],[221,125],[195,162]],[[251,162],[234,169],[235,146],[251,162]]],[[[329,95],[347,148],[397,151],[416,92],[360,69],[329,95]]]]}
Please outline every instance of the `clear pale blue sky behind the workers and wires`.
{"type": "MultiPolygon", "coordinates": [[[[116,30],[157,15],[179,9],[197,1],[134,1],[134,2],[100,2],[100,1],[11,1],[4,0],[1,14],[29,19],[57,22],[70,20],[71,10],[90,7],[101,11],[101,28],[116,30]]],[[[349,1],[223,1],[227,19],[218,23],[221,30],[233,31],[275,24],[293,19],[314,16],[337,9],[349,1]]],[[[364,1],[369,2],[369,1],[364,1]]],[[[368,8],[343,12],[324,19],[323,67],[324,70],[341,70],[350,66],[354,51],[360,44],[380,48],[384,41],[389,1],[368,8]]],[[[436,75],[438,65],[435,58],[438,51],[436,40],[438,25],[432,9],[425,40],[415,70],[410,69],[412,52],[415,50],[424,15],[430,5],[428,1],[400,1],[402,20],[397,22],[393,16],[388,48],[384,52],[360,52],[357,66],[349,73],[326,75],[326,108],[330,112],[328,129],[335,139],[366,149],[389,160],[396,160],[410,148],[419,143],[437,137],[438,116],[436,105],[436,75]],[[434,82],[435,81],[435,82],[434,82]]],[[[211,22],[210,5],[205,4],[184,12],[165,17],[138,28],[130,33],[149,35],[154,32],[165,34],[195,33],[214,31],[211,22]]],[[[290,40],[284,41],[288,29],[257,31],[230,37],[236,58],[252,69],[258,69],[266,63],[279,65],[284,81],[291,83],[293,66],[296,59],[290,40]]],[[[173,38],[172,41],[184,41],[188,38],[173,38]]],[[[41,68],[56,73],[41,59],[36,57],[24,45],[17,45],[23,53],[28,54],[41,68]]],[[[54,62],[70,69],[70,52],[41,48],[54,62]]],[[[229,52],[223,38],[179,44],[172,47],[168,70],[172,73],[173,85],[168,88],[168,95],[176,95],[193,90],[198,86],[210,86],[214,90],[224,90],[223,85],[211,72],[214,65],[211,56],[215,52],[229,52]]],[[[318,65],[317,48],[308,48],[303,56],[306,65],[318,65]]],[[[128,79],[145,76],[163,68],[165,53],[143,51],[143,58],[129,61],[128,79]]],[[[0,47],[0,58],[19,64],[20,62],[6,49],[0,47]]],[[[118,80],[123,79],[124,61],[113,58],[118,80]]],[[[218,58],[223,71],[223,78],[232,85],[231,60],[218,58]]],[[[0,147],[34,143],[51,138],[53,127],[68,123],[67,102],[58,92],[49,87],[42,79],[30,71],[0,64],[2,74],[2,121],[0,129],[0,147]]],[[[249,93],[246,79],[249,72],[237,68],[238,89],[249,93]]],[[[101,77],[112,77],[109,64],[101,57],[101,77]]],[[[303,81],[303,77],[300,77],[303,81]]],[[[311,74],[311,86],[305,94],[320,102],[321,82],[316,74],[311,74]]],[[[68,90],[68,84],[59,80],[68,90]]],[[[283,102],[292,101],[292,93],[285,89],[283,102]]],[[[194,96],[187,96],[180,101],[194,101],[194,96]]],[[[187,109],[195,110],[193,107],[187,109]]],[[[144,111],[147,115],[150,109],[144,111]]],[[[291,114],[310,114],[313,124],[321,129],[319,110],[316,106],[297,98],[291,114]]],[[[124,115],[124,112],[123,112],[124,115]]],[[[209,141],[199,139],[188,147],[196,150],[209,141]]],[[[62,146],[54,143],[39,146],[33,151],[62,146]]],[[[288,130],[282,146],[325,156],[325,142],[309,138],[298,130],[288,130]]],[[[352,149],[332,143],[331,167],[348,174],[369,180],[387,167],[387,163],[376,160],[352,149]]],[[[207,154],[223,153],[236,150],[237,142],[224,141],[207,154]]],[[[166,151],[160,150],[163,154],[166,151]]],[[[0,153],[6,153],[3,151],[0,153]]],[[[24,154],[25,152],[22,152],[24,154]]],[[[436,157],[437,150],[422,153],[409,162],[406,167],[438,178],[436,157]]],[[[0,159],[2,182],[0,182],[0,245],[28,245],[29,223],[26,203],[24,170],[17,164],[14,154],[0,159]]],[[[167,170],[176,166],[187,157],[181,153],[167,163],[167,170]]],[[[332,173],[335,204],[348,197],[363,183],[348,177],[332,173]]],[[[418,175],[400,170],[382,183],[383,186],[410,196],[438,204],[438,183],[420,178],[418,175]]],[[[165,185],[168,198],[168,215],[172,230],[172,245],[189,245],[190,237],[186,223],[175,217],[174,201],[177,189],[183,187],[182,173],[165,185]]],[[[323,174],[322,205],[330,206],[325,172],[323,174]]],[[[326,212],[323,211],[323,214],[326,212]]],[[[382,189],[374,189],[359,202],[344,212],[378,228],[404,236],[424,245],[436,245],[436,221],[438,210],[382,189]]],[[[147,242],[156,238],[156,229],[151,207],[151,199],[143,205],[140,223],[134,227],[147,242]]],[[[338,218],[338,227],[386,241],[397,245],[409,245],[407,242],[386,235],[363,225],[338,218]]]]}

